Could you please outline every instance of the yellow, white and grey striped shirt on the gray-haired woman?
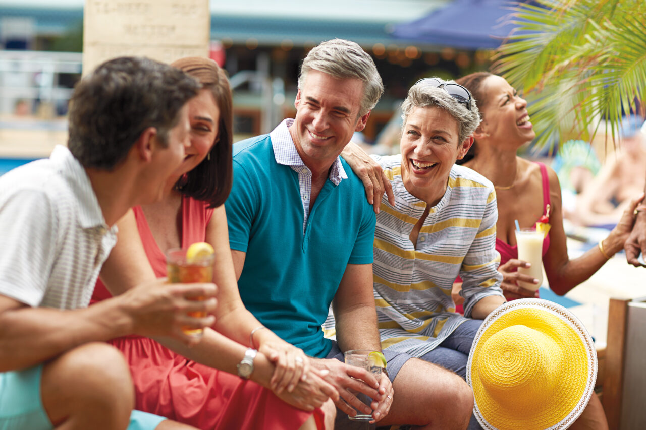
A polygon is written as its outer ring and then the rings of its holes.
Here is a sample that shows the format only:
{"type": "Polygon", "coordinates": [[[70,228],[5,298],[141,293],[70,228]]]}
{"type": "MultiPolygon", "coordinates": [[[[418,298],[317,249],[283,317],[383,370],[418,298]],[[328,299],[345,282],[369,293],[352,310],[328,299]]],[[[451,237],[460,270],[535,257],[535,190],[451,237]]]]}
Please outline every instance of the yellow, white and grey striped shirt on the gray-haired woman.
{"type": "Polygon", "coordinates": [[[498,212],[494,185],[463,166],[452,167],[443,198],[430,209],[417,249],[410,233],[426,203],[406,190],[401,156],[373,156],[390,179],[395,206],[377,215],[373,287],[382,348],[422,356],[466,318],[455,312],[451,289],[463,279],[464,314],[485,296],[502,295],[495,250],[498,212]]]}

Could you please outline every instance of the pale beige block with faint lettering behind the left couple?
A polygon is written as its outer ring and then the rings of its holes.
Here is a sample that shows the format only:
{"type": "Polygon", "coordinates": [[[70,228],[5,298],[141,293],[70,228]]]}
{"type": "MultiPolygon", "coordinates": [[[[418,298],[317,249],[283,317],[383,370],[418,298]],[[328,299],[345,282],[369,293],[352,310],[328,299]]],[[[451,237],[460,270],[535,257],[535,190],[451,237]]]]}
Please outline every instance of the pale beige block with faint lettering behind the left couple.
{"type": "Polygon", "coordinates": [[[107,59],[209,55],[209,0],[85,0],[83,74],[107,59]]]}

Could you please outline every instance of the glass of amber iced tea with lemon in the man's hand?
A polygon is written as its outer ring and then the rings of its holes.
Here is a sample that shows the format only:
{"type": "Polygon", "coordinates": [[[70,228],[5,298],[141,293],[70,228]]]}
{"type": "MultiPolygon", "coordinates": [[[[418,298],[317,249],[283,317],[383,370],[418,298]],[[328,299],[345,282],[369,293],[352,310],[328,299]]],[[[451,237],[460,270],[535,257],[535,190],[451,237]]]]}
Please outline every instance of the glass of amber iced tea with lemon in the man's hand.
{"type": "MultiPolygon", "coordinates": [[[[168,282],[171,283],[196,283],[213,282],[214,255],[200,256],[191,261],[186,258],[185,248],[172,248],[166,252],[166,268],[168,282]]],[[[204,297],[192,297],[189,300],[204,300],[204,297]]],[[[189,312],[189,316],[203,318],[206,312],[189,312]]],[[[184,333],[201,337],[203,329],[183,329],[184,333]]]]}

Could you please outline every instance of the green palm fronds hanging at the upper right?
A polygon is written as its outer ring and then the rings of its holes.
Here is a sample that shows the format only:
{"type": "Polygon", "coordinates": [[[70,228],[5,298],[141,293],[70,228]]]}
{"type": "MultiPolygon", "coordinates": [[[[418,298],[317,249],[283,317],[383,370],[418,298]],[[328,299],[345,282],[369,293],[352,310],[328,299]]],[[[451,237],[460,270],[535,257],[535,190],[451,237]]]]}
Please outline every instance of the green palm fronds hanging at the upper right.
{"type": "Polygon", "coordinates": [[[646,101],[646,2],[536,0],[514,6],[519,25],[493,70],[524,90],[537,145],[590,140],[646,101]]]}

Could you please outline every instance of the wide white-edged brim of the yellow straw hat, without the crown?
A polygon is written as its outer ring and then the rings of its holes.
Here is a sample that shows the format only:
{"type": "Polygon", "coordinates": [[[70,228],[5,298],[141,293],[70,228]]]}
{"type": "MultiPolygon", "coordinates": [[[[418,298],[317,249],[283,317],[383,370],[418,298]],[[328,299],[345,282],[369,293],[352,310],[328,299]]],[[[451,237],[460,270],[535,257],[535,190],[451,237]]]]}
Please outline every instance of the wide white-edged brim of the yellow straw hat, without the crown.
{"type": "Polygon", "coordinates": [[[466,380],[474,390],[474,415],[486,430],[566,429],[590,401],[596,375],[596,350],[583,323],[565,307],[533,298],[505,303],[489,314],[474,338],[466,367],[466,380]],[[485,342],[499,331],[517,325],[545,334],[562,354],[559,376],[549,382],[552,392],[539,392],[547,397],[520,409],[513,404],[514,398],[501,400],[487,391],[477,365],[485,342]]]}

